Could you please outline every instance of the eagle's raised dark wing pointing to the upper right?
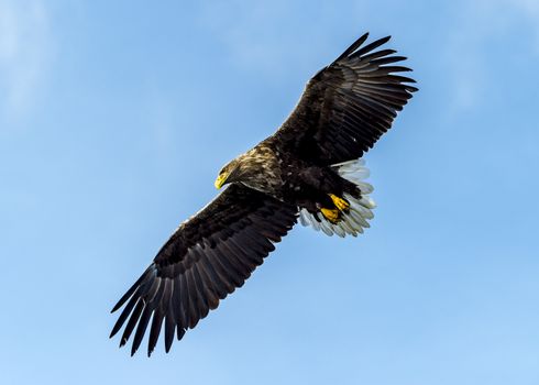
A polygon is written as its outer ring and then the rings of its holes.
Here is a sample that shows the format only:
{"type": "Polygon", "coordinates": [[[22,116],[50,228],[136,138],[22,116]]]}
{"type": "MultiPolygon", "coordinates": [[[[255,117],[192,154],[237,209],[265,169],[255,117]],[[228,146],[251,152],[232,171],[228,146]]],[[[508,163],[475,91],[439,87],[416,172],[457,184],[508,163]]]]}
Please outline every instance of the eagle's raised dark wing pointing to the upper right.
{"type": "Polygon", "coordinates": [[[270,138],[286,151],[320,164],[361,157],[386,132],[397,111],[417,88],[394,75],[409,68],[393,50],[375,51],[384,37],[362,46],[361,36],[341,56],[315,75],[288,119],[270,138]]]}

